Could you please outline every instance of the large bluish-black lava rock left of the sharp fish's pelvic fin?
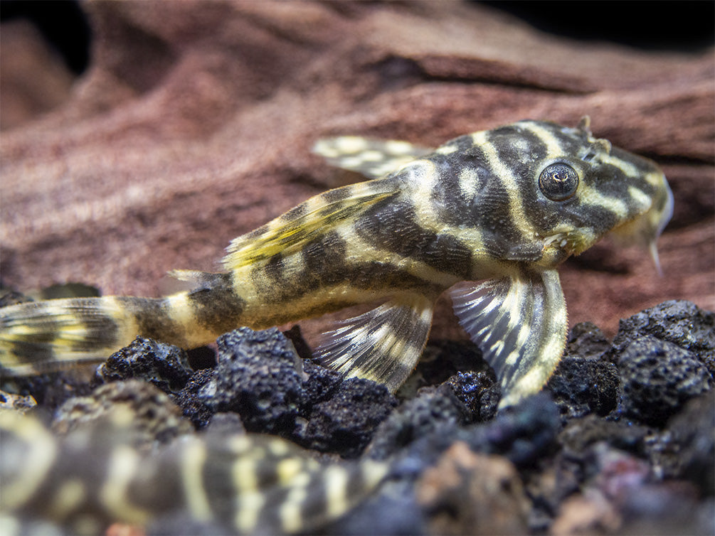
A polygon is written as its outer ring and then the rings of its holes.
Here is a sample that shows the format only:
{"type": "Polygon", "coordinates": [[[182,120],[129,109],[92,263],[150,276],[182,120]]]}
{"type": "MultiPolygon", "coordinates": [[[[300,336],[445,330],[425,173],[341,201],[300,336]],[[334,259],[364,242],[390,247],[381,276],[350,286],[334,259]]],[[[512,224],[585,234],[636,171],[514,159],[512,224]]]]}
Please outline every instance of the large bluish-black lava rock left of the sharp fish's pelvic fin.
{"type": "Polygon", "coordinates": [[[199,391],[214,412],[237,412],[250,432],[286,433],[302,399],[302,362],[275,328],[242,327],[217,339],[215,376],[199,391]]]}

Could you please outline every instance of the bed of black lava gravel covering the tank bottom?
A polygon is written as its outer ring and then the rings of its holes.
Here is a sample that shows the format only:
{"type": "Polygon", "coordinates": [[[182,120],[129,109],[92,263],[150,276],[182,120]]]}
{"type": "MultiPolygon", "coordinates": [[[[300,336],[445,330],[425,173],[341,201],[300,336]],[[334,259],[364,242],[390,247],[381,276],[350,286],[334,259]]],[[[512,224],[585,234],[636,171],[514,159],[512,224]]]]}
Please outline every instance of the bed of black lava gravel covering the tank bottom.
{"type": "MultiPolygon", "coordinates": [[[[4,405],[35,415],[60,442],[124,405],[137,444],[159,465],[186,435],[217,441],[250,432],[280,436],[321,462],[388,467],[345,515],[306,522],[317,534],[715,532],[715,316],[690,302],[621,321],[612,343],[593,324],[576,325],[543,392],[502,412],[495,377],[470,343],[431,342],[395,396],[301,359],[300,335],[290,336],[237,329],[218,339],[215,366],[205,352],[198,359],[137,339],[93,374],[6,379],[4,405]]],[[[0,477],[8,465],[0,462],[0,477]]],[[[2,526],[18,533],[78,526],[30,507],[12,515],[2,526]]],[[[176,510],[132,530],[234,529],[176,510]]]]}

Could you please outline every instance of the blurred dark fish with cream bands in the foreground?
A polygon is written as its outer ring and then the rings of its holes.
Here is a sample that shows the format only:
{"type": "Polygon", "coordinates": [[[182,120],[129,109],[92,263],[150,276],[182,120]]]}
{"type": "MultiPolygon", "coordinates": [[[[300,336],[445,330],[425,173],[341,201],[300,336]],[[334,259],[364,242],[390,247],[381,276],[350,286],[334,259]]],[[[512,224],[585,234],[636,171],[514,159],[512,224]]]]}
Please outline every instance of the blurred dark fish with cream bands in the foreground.
{"type": "Polygon", "coordinates": [[[0,410],[3,534],[25,534],[39,520],[67,534],[105,534],[116,522],[146,529],[177,517],[187,533],[206,525],[217,534],[307,534],[364,500],[390,468],[318,462],[258,434],[185,435],[149,449],[136,444],[139,419],[119,404],[58,436],[36,417],[0,410]]]}

